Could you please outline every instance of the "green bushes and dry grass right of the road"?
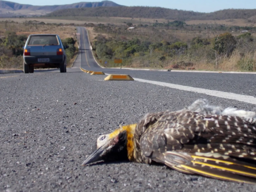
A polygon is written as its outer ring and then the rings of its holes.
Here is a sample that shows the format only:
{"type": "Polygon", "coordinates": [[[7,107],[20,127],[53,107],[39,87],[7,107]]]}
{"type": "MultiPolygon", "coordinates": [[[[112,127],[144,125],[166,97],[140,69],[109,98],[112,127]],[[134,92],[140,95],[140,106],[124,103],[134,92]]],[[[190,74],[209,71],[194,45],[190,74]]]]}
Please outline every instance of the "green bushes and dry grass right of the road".
{"type": "Polygon", "coordinates": [[[256,71],[255,27],[187,25],[183,21],[126,26],[87,23],[106,67],[256,71]],[[135,27],[128,29],[128,27],[135,27]],[[242,32],[248,29],[249,32],[242,32]],[[115,64],[114,59],[122,59],[115,64]],[[107,61],[107,64],[105,64],[107,61]]]}

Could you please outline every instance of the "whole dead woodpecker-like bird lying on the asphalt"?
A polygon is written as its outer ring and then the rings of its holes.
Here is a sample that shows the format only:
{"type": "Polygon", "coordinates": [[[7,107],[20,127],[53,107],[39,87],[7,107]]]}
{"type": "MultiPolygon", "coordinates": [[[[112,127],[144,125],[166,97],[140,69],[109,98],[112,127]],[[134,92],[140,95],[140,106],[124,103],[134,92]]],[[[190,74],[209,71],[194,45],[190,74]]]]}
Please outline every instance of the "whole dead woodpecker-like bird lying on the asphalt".
{"type": "Polygon", "coordinates": [[[83,165],[125,151],[139,163],[256,183],[256,113],[213,108],[205,100],[196,107],[196,102],[180,111],[148,113],[137,124],[123,126],[102,141],[99,137],[98,150],[83,165]]]}

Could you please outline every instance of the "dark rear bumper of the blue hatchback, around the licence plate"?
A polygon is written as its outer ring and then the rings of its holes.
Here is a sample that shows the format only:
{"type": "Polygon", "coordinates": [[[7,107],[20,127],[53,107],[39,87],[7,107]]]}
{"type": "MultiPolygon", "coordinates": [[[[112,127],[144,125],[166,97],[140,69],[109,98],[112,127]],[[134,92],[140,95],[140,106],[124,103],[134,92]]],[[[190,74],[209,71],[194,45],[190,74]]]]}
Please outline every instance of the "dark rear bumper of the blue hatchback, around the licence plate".
{"type": "Polygon", "coordinates": [[[63,55],[45,55],[45,56],[24,56],[25,64],[60,64],[64,61],[63,55]],[[38,62],[38,58],[49,58],[49,62],[38,62]]]}

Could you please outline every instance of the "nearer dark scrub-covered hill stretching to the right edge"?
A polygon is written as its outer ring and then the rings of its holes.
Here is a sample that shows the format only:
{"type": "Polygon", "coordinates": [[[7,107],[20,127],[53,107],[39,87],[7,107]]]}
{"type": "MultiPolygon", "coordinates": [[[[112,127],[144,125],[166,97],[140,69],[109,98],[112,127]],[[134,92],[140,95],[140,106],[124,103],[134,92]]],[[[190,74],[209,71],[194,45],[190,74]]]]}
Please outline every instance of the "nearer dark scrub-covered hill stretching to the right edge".
{"type": "Polygon", "coordinates": [[[224,20],[248,19],[256,16],[256,9],[224,9],[211,13],[166,9],[161,7],[95,7],[58,10],[47,14],[49,17],[84,16],[84,17],[134,17],[169,20],[224,20]]]}

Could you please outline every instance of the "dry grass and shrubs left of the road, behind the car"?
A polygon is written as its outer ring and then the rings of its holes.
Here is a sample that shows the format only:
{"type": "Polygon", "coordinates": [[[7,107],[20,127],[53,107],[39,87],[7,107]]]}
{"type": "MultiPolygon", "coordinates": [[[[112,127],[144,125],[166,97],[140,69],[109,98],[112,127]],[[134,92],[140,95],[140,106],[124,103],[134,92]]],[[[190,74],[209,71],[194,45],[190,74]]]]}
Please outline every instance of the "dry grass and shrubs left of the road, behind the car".
{"type": "Polygon", "coordinates": [[[75,27],[60,24],[28,21],[24,23],[0,22],[0,69],[23,68],[23,46],[30,34],[53,33],[61,37],[66,49],[67,66],[76,56],[78,48],[75,38],[75,27]]]}

